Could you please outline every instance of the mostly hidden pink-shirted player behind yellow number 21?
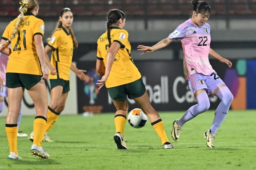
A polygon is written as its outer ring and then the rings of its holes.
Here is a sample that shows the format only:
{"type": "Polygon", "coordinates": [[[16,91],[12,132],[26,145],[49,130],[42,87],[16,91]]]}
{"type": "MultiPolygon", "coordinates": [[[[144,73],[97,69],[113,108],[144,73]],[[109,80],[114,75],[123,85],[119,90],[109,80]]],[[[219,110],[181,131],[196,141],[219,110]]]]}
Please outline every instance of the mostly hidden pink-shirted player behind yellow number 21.
{"type": "MultiPolygon", "coordinates": [[[[11,46],[9,45],[9,48],[11,46]]],[[[0,53],[0,113],[3,111],[4,108],[4,98],[7,97],[7,87],[5,86],[5,73],[6,73],[6,66],[8,62],[9,57],[3,53],[0,53]]],[[[21,121],[22,116],[22,105],[20,105],[19,110],[19,116],[17,121],[18,126],[18,137],[27,137],[28,135],[26,133],[22,133],[22,131],[19,131],[19,125],[21,121]]]]}

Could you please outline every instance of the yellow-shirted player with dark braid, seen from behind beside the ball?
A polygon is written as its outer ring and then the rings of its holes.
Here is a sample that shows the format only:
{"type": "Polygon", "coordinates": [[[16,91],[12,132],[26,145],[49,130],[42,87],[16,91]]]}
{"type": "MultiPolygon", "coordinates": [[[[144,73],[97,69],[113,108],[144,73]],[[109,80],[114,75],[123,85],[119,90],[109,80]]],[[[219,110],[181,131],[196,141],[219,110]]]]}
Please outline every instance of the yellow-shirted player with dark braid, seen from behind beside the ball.
{"type": "Polygon", "coordinates": [[[96,70],[104,74],[96,83],[99,89],[106,84],[109,95],[116,107],[114,141],[118,149],[127,149],[124,140],[124,127],[128,112],[129,99],[134,99],[148,116],[151,125],[161,139],[163,148],[173,148],[165,134],[162,119],[151,106],[142,82],[140,72],[131,57],[131,44],[128,32],[124,30],[125,14],[117,9],[110,10],[107,16],[107,31],[99,37],[96,70]]]}

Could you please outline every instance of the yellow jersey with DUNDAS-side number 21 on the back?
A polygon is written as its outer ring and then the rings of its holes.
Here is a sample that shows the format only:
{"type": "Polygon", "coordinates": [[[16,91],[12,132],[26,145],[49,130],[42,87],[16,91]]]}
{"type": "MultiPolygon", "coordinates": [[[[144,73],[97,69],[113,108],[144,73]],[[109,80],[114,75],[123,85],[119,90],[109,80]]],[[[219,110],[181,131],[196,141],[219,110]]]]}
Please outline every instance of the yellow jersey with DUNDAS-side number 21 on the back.
{"type": "MultiPolygon", "coordinates": [[[[34,35],[44,36],[44,21],[32,13],[25,13],[18,34],[11,40],[11,54],[6,72],[42,75],[41,65],[35,48],[34,35]]],[[[11,37],[18,18],[6,27],[2,39],[11,37]]]]}

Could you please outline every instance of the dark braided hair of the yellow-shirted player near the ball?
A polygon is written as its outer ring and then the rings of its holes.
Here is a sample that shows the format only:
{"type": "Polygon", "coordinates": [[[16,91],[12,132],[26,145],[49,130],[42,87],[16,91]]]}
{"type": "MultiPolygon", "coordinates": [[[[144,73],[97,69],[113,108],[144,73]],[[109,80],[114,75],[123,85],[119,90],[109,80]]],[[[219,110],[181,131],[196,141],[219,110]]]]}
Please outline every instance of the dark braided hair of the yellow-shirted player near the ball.
{"type": "Polygon", "coordinates": [[[110,26],[114,23],[117,23],[117,21],[119,19],[124,20],[125,19],[125,15],[124,12],[114,9],[114,10],[110,10],[108,12],[108,17],[107,17],[107,23],[106,23],[106,27],[107,27],[107,34],[108,34],[108,41],[109,41],[109,47],[111,45],[111,37],[110,37],[110,26]]]}

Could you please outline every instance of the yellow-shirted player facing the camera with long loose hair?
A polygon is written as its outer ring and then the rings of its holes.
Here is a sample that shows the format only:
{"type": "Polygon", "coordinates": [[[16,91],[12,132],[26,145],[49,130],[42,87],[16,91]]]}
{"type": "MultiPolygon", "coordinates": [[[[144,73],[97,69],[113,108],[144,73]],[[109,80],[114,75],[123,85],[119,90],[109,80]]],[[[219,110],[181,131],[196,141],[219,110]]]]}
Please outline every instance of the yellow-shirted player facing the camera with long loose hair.
{"type": "MultiPolygon", "coordinates": [[[[85,80],[86,78],[86,75],[84,75],[86,71],[79,70],[72,64],[73,50],[78,47],[78,42],[71,28],[72,23],[73,14],[71,10],[69,8],[61,10],[57,26],[53,30],[52,36],[47,39],[48,44],[44,49],[46,64],[50,69],[51,101],[48,106],[47,124],[43,141],[52,142],[47,133],[59,118],[60,113],[64,110],[70,90],[70,69],[80,80],[85,80]],[[52,52],[51,61],[48,57],[49,52],[52,52]]],[[[29,135],[29,139],[33,141],[33,132],[29,135]]]]}

